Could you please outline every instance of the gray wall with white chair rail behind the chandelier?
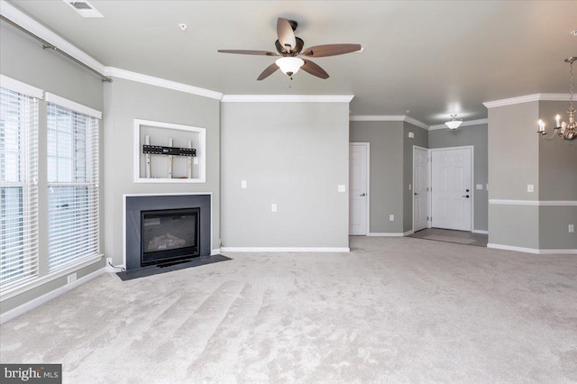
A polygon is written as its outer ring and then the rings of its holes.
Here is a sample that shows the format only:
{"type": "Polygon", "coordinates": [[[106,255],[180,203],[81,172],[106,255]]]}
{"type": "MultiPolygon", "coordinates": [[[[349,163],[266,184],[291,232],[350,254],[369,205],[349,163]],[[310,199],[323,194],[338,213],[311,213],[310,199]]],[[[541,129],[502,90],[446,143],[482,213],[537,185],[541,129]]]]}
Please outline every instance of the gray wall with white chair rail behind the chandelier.
{"type": "Polygon", "coordinates": [[[551,133],[554,115],[566,109],[566,102],[543,101],[489,109],[489,198],[528,204],[490,204],[490,243],[577,249],[577,234],[567,228],[577,224],[577,206],[572,205],[577,201],[577,151],[574,143],[545,142],[535,133],[539,117],[551,133]],[[535,185],[534,193],[527,192],[527,184],[535,185]],[[550,200],[560,206],[547,206],[550,200]]]}

